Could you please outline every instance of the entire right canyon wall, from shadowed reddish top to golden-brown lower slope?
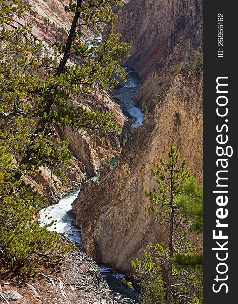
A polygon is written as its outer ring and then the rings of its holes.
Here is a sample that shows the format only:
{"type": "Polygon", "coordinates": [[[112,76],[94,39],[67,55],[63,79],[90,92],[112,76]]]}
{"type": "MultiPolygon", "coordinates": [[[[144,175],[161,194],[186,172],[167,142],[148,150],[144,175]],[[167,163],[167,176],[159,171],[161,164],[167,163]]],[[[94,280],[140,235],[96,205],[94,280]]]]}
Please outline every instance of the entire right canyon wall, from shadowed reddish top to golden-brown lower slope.
{"type": "Polygon", "coordinates": [[[142,77],[136,104],[146,114],[117,167],[83,184],[72,210],[86,252],[131,273],[130,261],[166,236],[144,192],[156,186],[151,168],[167,159],[171,144],[202,184],[202,2],[132,0],[118,14],[115,30],[126,41],[134,36],[123,64],[142,77]]]}

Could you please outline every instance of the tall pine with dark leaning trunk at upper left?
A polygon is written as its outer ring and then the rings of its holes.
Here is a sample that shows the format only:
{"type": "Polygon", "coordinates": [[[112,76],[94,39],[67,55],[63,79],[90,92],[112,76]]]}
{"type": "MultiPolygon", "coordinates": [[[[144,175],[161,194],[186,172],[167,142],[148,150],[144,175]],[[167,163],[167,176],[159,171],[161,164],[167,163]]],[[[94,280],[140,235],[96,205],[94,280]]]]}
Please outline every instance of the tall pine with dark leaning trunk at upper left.
{"type": "Polygon", "coordinates": [[[115,84],[113,74],[125,78],[120,62],[130,46],[119,43],[120,35],[113,34],[117,5],[118,0],[71,0],[65,9],[73,14],[73,21],[67,41],[52,46],[55,61],[49,48],[32,35],[32,25],[24,21],[31,7],[20,0],[0,0],[0,140],[16,156],[17,180],[23,172],[34,174],[41,165],[59,175],[62,164],[69,166],[68,142],[56,143],[56,125],[101,136],[120,131],[112,112],[83,106],[93,90],[115,84]],[[105,39],[89,48],[85,32],[100,33],[104,28],[105,39]],[[75,106],[74,100],[82,106],[75,106]]]}

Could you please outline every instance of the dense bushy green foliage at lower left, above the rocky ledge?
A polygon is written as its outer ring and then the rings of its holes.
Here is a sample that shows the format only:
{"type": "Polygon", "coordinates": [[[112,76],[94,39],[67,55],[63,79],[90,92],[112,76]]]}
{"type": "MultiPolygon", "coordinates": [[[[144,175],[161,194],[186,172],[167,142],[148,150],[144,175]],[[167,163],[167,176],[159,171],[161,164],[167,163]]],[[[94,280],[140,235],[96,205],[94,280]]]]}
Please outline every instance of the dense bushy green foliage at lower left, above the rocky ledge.
{"type": "Polygon", "coordinates": [[[3,146],[0,171],[0,258],[7,259],[10,266],[17,263],[32,271],[40,260],[68,252],[71,247],[60,235],[48,231],[54,221],[40,227],[34,220],[46,201],[22,181],[14,181],[12,157],[3,146]]]}

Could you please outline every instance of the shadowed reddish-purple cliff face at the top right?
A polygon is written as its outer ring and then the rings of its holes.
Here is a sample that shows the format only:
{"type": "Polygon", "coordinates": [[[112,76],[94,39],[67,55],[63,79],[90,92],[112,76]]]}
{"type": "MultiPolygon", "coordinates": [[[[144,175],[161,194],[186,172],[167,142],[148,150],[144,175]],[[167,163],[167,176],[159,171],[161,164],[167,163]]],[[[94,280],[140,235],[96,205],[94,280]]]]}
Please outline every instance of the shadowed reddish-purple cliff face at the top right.
{"type": "Polygon", "coordinates": [[[114,30],[124,41],[133,41],[130,57],[124,63],[145,75],[185,35],[193,35],[189,43],[197,49],[201,45],[201,32],[197,32],[201,25],[201,0],[131,0],[118,12],[114,30]]]}

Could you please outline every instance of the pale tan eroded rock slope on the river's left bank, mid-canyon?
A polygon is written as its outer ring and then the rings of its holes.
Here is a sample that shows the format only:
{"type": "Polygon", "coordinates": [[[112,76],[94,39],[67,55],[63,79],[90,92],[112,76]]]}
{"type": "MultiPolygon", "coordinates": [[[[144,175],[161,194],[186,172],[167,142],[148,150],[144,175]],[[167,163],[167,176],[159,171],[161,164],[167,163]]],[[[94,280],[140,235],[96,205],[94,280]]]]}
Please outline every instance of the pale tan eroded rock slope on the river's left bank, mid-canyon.
{"type": "MultiPolygon", "coordinates": [[[[114,118],[125,131],[129,129],[128,118],[123,114],[120,106],[114,101],[115,96],[111,92],[97,92],[89,94],[89,99],[85,107],[89,110],[97,104],[97,110],[100,112],[113,111],[114,118]]],[[[80,106],[80,102],[74,101],[74,106],[80,106]]],[[[123,132],[124,132],[123,131],[123,132]]],[[[69,149],[72,151],[72,165],[68,169],[67,185],[63,186],[59,177],[53,174],[48,168],[41,167],[41,174],[32,179],[24,176],[24,180],[30,183],[38,193],[47,195],[52,203],[57,203],[64,195],[70,193],[87,178],[93,177],[97,171],[109,160],[117,156],[121,151],[123,133],[104,134],[104,142],[97,137],[91,137],[92,134],[85,130],[56,127],[59,140],[69,140],[69,149]]]]}

